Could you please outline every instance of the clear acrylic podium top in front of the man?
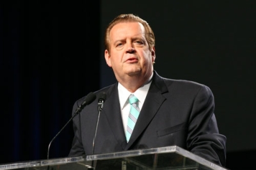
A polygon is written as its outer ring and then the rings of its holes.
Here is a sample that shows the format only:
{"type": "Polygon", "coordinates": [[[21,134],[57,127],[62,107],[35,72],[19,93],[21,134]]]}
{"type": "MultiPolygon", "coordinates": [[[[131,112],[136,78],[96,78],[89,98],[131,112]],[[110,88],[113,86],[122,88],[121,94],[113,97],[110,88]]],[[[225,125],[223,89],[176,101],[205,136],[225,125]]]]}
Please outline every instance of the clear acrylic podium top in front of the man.
{"type": "Polygon", "coordinates": [[[119,151],[81,157],[51,158],[0,164],[1,169],[24,170],[140,170],[140,169],[196,169],[225,170],[179,146],[119,151]]]}

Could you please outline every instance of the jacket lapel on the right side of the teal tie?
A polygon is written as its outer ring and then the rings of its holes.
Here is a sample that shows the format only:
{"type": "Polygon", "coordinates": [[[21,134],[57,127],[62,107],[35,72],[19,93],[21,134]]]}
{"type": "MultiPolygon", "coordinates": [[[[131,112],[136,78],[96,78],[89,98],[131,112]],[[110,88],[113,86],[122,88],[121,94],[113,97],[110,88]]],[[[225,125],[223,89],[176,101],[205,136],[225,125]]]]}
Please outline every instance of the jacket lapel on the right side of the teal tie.
{"type": "Polygon", "coordinates": [[[131,138],[125,150],[128,150],[134,141],[136,141],[136,139],[143,133],[145,128],[147,128],[148,124],[157,113],[159,107],[166,99],[163,96],[163,93],[166,93],[167,91],[168,89],[166,88],[164,80],[155,72],[147,97],[145,98],[145,102],[141,108],[140,116],[136,122],[131,138]]]}

